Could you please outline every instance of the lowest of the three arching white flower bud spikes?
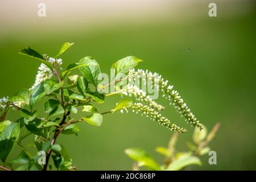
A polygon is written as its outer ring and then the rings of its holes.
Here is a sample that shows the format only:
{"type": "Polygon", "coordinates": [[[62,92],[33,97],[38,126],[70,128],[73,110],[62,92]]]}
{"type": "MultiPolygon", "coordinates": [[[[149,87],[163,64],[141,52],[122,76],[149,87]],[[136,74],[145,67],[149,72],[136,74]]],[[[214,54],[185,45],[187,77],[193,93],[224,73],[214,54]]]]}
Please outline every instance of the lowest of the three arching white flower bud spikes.
{"type": "Polygon", "coordinates": [[[123,113],[123,110],[128,112],[127,109],[129,109],[129,108],[132,109],[133,112],[135,112],[135,113],[141,112],[142,115],[145,114],[146,117],[150,117],[150,119],[158,122],[159,125],[162,125],[171,131],[178,131],[179,133],[187,132],[187,130],[185,130],[175,124],[171,124],[169,119],[167,119],[166,117],[163,117],[161,114],[158,113],[158,111],[155,111],[154,109],[150,108],[147,105],[143,105],[142,103],[135,103],[133,105],[123,107],[123,109],[121,110],[121,113],[123,113]]]}

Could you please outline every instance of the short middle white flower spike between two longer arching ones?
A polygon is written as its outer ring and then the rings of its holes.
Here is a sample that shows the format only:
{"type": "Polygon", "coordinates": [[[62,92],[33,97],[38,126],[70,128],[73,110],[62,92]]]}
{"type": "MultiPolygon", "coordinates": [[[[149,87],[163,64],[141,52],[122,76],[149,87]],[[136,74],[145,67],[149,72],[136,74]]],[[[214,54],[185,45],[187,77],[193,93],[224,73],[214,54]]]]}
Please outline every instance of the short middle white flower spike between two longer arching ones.
{"type": "Polygon", "coordinates": [[[147,104],[148,106],[156,110],[164,109],[164,106],[153,101],[152,98],[150,98],[150,96],[147,96],[146,92],[139,89],[136,85],[127,84],[125,88],[118,90],[117,93],[122,93],[122,94],[125,94],[126,96],[129,95],[130,97],[134,96],[137,101],[141,101],[144,104],[147,104]]]}

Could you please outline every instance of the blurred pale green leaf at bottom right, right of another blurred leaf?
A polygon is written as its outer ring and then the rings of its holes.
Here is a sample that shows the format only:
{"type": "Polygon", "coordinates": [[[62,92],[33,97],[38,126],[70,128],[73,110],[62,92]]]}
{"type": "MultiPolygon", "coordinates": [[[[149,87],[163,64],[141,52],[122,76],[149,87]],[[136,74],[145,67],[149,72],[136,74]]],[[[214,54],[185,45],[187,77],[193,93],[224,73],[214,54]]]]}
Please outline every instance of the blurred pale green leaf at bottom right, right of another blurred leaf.
{"type": "Polygon", "coordinates": [[[191,166],[191,165],[199,165],[201,166],[201,161],[196,156],[193,156],[190,153],[182,154],[179,158],[174,160],[169,166],[167,167],[167,171],[179,171],[180,169],[191,166]]]}

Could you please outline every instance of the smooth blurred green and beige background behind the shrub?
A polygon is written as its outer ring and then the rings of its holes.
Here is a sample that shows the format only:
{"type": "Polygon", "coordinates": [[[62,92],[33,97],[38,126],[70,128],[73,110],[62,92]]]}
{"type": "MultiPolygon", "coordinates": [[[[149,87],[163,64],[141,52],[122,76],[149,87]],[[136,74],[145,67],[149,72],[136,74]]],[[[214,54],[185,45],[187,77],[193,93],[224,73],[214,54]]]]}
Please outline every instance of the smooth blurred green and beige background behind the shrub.
{"type": "MultiPolygon", "coordinates": [[[[74,42],[62,56],[64,68],[93,56],[105,73],[115,61],[134,55],[144,60],[138,68],[159,72],[174,84],[209,130],[221,123],[210,143],[217,152],[217,165],[210,166],[204,156],[202,167],[189,169],[256,169],[255,15],[255,2],[244,0],[2,0],[0,97],[33,84],[40,63],[18,54],[27,46],[55,55],[64,42],[74,42]],[[46,17],[38,16],[39,2],[46,3],[46,17]],[[208,16],[210,2],[217,4],[217,17],[208,16]]],[[[100,110],[112,109],[118,99],[109,98],[100,110]]],[[[159,102],[167,106],[164,115],[189,129],[177,144],[177,150],[187,150],[192,127],[167,101],[159,102]]],[[[16,118],[14,112],[8,119],[16,118]]],[[[128,147],[144,148],[162,162],[155,147],[166,146],[172,135],[132,113],[105,115],[101,127],[79,126],[79,137],[64,135],[57,143],[67,147],[80,170],[131,169],[133,162],[123,152],[128,147]]],[[[9,159],[18,154],[15,147],[9,159]]]]}

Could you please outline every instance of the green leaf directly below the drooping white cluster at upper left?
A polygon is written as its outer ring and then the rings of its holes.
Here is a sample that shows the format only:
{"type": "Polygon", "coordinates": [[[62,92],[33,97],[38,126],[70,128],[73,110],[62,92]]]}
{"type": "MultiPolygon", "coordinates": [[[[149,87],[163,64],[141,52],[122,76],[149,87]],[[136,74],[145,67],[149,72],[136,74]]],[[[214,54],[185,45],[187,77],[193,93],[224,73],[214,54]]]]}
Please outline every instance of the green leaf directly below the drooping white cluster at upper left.
{"type": "Polygon", "coordinates": [[[42,100],[44,96],[46,96],[46,92],[44,92],[44,82],[41,82],[32,90],[30,96],[30,106],[34,106],[36,102],[42,100]]]}

